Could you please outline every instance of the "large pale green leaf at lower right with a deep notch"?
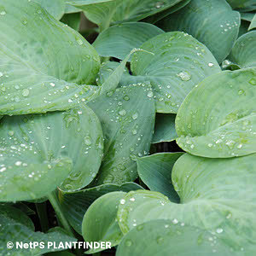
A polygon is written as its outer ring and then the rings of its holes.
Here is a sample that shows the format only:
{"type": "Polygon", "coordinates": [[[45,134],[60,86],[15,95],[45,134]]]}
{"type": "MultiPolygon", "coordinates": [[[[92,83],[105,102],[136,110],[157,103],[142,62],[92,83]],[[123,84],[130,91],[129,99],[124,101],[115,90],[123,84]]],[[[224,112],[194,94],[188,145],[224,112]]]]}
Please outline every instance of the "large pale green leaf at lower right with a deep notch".
{"type": "Polygon", "coordinates": [[[137,190],[119,204],[119,227],[171,219],[212,233],[224,244],[253,255],[256,249],[256,154],[232,159],[207,159],[184,154],[172,170],[172,182],[182,204],[157,192],[137,190]]]}

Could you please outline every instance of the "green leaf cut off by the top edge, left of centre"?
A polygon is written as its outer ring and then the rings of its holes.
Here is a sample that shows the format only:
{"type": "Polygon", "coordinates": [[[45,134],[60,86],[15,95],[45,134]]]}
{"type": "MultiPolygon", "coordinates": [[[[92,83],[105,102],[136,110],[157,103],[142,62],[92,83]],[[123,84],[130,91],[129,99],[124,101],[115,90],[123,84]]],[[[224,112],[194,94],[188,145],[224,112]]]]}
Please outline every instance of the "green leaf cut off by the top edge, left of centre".
{"type": "Polygon", "coordinates": [[[89,20],[105,30],[111,23],[142,20],[179,2],[181,0],[73,0],[68,3],[83,9],[89,20]]]}

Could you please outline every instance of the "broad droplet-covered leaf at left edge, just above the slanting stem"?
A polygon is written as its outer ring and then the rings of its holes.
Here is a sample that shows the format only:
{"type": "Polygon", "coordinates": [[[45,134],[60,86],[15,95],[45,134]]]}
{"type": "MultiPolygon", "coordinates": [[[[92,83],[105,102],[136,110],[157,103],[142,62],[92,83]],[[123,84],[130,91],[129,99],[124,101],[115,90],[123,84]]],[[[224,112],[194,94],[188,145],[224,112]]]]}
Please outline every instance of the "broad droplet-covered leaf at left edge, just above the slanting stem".
{"type": "Polygon", "coordinates": [[[61,189],[81,189],[101,165],[102,129],[88,107],[3,118],[0,137],[1,201],[43,197],[65,178],[61,189]]]}

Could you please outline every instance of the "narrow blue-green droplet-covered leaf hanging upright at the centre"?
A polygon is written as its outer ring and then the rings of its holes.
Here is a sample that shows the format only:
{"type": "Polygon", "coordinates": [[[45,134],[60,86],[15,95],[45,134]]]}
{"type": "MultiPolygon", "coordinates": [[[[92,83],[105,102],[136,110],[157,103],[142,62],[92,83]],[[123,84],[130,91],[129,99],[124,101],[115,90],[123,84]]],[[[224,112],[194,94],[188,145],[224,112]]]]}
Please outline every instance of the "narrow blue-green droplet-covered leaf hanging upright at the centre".
{"type": "Polygon", "coordinates": [[[95,184],[136,179],[136,157],[148,154],[154,130],[154,101],[148,86],[118,88],[89,102],[102,123],[102,166],[95,184]]]}

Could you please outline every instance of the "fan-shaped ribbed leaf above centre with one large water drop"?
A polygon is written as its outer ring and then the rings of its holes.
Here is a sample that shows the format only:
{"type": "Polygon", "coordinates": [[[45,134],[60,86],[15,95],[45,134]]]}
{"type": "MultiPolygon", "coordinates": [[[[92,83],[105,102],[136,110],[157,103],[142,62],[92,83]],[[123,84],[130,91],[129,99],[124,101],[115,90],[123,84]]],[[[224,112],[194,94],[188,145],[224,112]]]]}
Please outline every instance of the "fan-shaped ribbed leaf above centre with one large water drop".
{"type": "Polygon", "coordinates": [[[131,59],[133,76],[124,76],[120,84],[149,81],[159,113],[177,113],[195,84],[220,71],[207,47],[183,32],[160,34],[140,48],[154,55],[135,53],[131,59]]]}

